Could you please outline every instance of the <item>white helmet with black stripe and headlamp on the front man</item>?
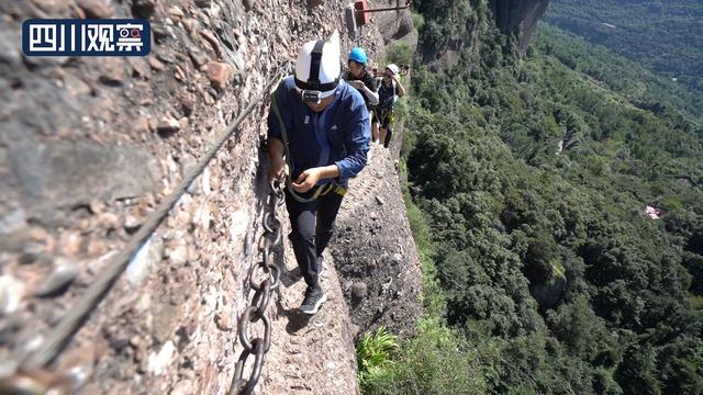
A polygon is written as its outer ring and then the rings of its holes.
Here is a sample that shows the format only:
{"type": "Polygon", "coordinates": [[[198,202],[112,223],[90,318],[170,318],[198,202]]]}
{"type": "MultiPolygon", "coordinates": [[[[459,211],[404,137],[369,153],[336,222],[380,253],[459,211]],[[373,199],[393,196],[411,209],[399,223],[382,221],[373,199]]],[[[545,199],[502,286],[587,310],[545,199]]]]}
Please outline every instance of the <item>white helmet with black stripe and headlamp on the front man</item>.
{"type": "Polygon", "coordinates": [[[338,45],[324,41],[305,43],[295,64],[295,87],[303,101],[319,102],[332,95],[339,84],[341,65],[338,45]]]}

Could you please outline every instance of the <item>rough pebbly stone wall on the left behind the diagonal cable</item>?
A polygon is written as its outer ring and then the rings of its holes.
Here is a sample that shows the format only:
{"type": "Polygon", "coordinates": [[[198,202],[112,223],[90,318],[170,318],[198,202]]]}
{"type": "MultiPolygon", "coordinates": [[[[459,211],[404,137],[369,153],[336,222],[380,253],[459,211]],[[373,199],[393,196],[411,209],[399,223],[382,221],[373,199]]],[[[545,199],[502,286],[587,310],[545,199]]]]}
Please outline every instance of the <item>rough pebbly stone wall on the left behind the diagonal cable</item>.
{"type": "MultiPolygon", "coordinates": [[[[343,50],[352,46],[345,5],[0,3],[0,377],[42,341],[302,43],[339,29],[343,50]],[[27,18],[133,15],[152,22],[146,58],[20,52],[27,18]]],[[[226,392],[246,268],[258,259],[266,111],[258,105],[217,154],[52,370],[81,366],[89,394],[226,392]]],[[[346,387],[354,393],[356,383],[346,387]]]]}

